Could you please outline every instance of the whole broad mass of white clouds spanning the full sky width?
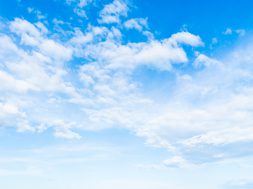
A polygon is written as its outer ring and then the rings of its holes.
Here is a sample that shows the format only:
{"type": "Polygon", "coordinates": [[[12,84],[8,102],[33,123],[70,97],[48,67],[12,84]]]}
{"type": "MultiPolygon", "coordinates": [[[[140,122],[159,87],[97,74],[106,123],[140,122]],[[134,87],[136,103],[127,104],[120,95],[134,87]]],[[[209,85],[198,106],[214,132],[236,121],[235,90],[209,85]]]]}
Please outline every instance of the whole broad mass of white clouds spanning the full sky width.
{"type": "MultiPolygon", "coordinates": [[[[176,158],[165,162],[169,166],[184,166],[180,155],[187,149],[252,141],[252,46],[216,60],[195,52],[204,43],[189,32],[126,43],[124,27],[151,33],[147,19],[121,22],[128,10],[114,0],[101,10],[100,25],[65,31],[67,40],[41,22],[4,23],[0,125],[32,132],[52,128],[56,137],[67,139],[80,138],[78,130],[126,128],[170,150],[176,158]],[[196,54],[192,62],[189,51],[196,54]],[[169,89],[161,91],[166,100],[143,92],[148,83],[136,77],[138,70],[149,78],[150,71],[170,76],[164,81],[169,89]]],[[[152,90],[159,90],[159,80],[153,82],[152,90]]]]}

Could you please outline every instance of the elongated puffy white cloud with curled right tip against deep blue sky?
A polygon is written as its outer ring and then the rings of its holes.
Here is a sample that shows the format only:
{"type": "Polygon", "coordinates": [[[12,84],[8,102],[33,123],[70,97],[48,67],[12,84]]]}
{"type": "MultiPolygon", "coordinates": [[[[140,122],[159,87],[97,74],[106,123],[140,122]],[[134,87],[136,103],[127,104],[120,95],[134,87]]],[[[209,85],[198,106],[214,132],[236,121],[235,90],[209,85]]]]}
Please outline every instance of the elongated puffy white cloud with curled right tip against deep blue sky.
{"type": "Polygon", "coordinates": [[[201,39],[190,33],[177,33],[161,41],[151,40],[126,45],[119,42],[107,40],[86,46],[85,56],[102,61],[107,69],[135,69],[145,65],[170,70],[172,64],[188,61],[180,44],[202,45],[201,39]]]}

